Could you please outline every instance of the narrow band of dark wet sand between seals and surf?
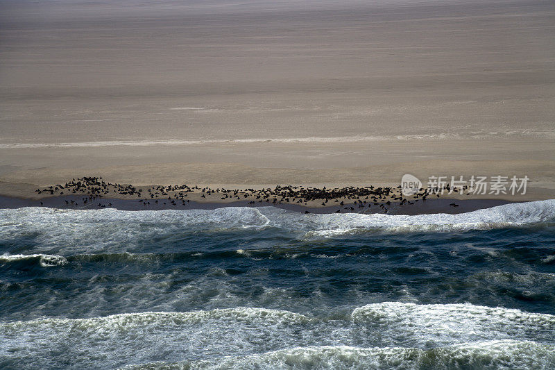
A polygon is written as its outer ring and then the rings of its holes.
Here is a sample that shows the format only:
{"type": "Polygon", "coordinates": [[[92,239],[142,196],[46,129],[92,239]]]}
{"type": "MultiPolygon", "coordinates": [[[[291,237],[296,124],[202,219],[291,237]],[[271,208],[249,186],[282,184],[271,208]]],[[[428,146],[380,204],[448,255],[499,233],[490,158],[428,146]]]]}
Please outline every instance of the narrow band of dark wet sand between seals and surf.
{"type": "MultiPolygon", "coordinates": [[[[142,201],[131,200],[131,199],[118,199],[118,198],[100,198],[90,202],[87,205],[73,206],[71,203],[67,204],[66,201],[78,199],[78,196],[49,196],[42,198],[42,205],[40,200],[35,199],[22,199],[13,196],[1,196],[0,195],[0,209],[17,209],[26,207],[43,207],[52,209],[64,209],[64,210],[99,210],[112,208],[114,210],[215,210],[218,208],[229,208],[229,207],[249,207],[249,208],[261,208],[261,207],[275,207],[281,208],[290,212],[309,212],[316,214],[330,214],[336,213],[338,210],[337,205],[332,206],[318,206],[312,207],[309,205],[298,205],[298,204],[288,204],[288,203],[275,203],[275,204],[262,204],[255,203],[249,204],[248,201],[233,201],[228,203],[219,203],[212,201],[189,201],[189,203],[176,203],[172,205],[167,202],[164,203],[151,203],[144,205],[142,201]],[[103,205],[99,207],[99,204],[103,205]],[[111,204],[111,205],[108,205],[111,204]]],[[[392,202],[389,205],[387,215],[430,215],[436,213],[446,213],[446,214],[459,214],[465,212],[472,212],[475,210],[485,209],[495,207],[497,205],[504,205],[509,203],[522,203],[522,201],[506,201],[504,199],[462,199],[454,200],[452,198],[439,198],[439,199],[427,199],[413,204],[400,205],[400,202],[392,202]],[[454,207],[451,204],[456,203],[457,206],[454,207]]],[[[355,203],[345,203],[341,207],[341,213],[359,213],[359,214],[384,214],[379,207],[366,208],[360,210],[356,208],[355,203]],[[350,210],[350,207],[354,210],[350,210]],[[343,208],[349,208],[345,210],[343,208]]]]}

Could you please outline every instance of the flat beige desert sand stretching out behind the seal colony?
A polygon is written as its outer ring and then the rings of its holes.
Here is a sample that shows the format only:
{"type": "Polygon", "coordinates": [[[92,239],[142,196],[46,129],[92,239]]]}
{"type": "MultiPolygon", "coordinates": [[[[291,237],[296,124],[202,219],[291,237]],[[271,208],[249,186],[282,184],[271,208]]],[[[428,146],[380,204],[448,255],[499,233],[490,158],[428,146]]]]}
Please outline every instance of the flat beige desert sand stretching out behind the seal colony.
{"type": "Polygon", "coordinates": [[[552,1],[0,1],[0,194],[530,178],[555,197],[552,1]]]}

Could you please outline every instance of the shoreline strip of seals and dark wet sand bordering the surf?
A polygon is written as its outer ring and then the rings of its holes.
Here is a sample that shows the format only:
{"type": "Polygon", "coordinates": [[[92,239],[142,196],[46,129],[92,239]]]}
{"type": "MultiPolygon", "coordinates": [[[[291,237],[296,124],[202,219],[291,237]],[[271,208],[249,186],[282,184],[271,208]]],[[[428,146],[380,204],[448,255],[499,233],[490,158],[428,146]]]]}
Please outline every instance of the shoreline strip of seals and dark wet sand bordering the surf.
{"type": "Polygon", "coordinates": [[[5,182],[0,182],[0,185],[0,208],[46,207],[70,210],[214,210],[273,206],[291,212],[320,214],[427,215],[459,214],[507,203],[540,200],[518,195],[474,194],[466,186],[450,187],[448,184],[434,189],[421,187],[412,195],[402,194],[400,186],[368,184],[344,187],[332,187],[329,184],[253,185],[241,188],[186,184],[145,186],[110,182],[103,176],[71,178],[69,181],[40,187],[5,182]]]}

